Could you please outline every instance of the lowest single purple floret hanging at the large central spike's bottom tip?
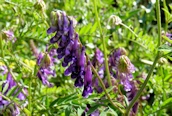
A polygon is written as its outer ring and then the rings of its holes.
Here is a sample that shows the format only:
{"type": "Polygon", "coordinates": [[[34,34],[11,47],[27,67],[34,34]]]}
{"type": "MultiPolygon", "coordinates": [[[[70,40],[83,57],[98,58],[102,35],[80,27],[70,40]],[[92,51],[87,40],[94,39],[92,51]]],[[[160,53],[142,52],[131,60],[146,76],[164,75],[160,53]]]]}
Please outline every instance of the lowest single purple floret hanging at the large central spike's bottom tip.
{"type": "Polygon", "coordinates": [[[88,62],[87,67],[85,69],[85,76],[84,76],[84,91],[82,93],[83,97],[88,97],[93,92],[92,89],[92,71],[90,62],[88,62]]]}

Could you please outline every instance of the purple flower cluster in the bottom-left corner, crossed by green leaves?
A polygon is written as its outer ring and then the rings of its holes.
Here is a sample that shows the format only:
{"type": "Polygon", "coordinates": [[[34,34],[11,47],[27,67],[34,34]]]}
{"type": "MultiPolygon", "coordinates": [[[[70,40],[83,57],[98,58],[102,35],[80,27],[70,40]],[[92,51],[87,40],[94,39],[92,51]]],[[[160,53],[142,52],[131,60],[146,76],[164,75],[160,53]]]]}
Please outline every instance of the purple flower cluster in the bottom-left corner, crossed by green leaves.
{"type": "MultiPolygon", "coordinates": [[[[3,83],[2,90],[0,92],[4,96],[6,96],[7,93],[13,87],[17,86],[17,83],[14,81],[11,73],[7,70],[7,67],[6,66],[0,66],[0,67],[1,67],[1,69],[2,69],[2,67],[4,69],[4,72],[2,72],[3,75],[5,75],[5,73],[8,72],[7,73],[6,81],[3,83]]],[[[26,90],[24,90],[24,91],[26,92],[26,90]]],[[[12,96],[14,96],[17,93],[18,93],[18,88],[14,91],[14,93],[12,94],[12,96]]],[[[20,99],[20,100],[25,100],[26,99],[26,96],[22,92],[19,92],[17,98],[20,99]]],[[[11,115],[11,116],[18,116],[20,114],[20,110],[19,110],[19,108],[17,107],[17,105],[15,103],[12,103],[10,101],[7,101],[2,96],[0,96],[0,111],[5,112],[6,109],[8,109],[10,111],[9,112],[10,113],[9,115],[11,115]]]]}

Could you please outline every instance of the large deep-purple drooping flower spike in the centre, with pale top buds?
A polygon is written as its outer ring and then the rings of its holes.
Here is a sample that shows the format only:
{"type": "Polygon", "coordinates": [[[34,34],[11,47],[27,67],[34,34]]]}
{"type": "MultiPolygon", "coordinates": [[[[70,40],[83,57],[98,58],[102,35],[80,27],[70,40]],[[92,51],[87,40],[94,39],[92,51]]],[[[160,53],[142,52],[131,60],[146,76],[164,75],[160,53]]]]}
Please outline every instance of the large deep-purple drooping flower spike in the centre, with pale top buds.
{"type": "Polygon", "coordinates": [[[57,58],[63,58],[62,66],[67,67],[64,74],[75,79],[76,87],[84,86],[82,96],[88,97],[93,91],[92,71],[90,62],[86,63],[85,47],[79,43],[78,34],[74,30],[76,21],[63,11],[57,11],[54,15],[55,20],[47,30],[48,34],[56,32],[50,43],[58,44],[57,58]]]}

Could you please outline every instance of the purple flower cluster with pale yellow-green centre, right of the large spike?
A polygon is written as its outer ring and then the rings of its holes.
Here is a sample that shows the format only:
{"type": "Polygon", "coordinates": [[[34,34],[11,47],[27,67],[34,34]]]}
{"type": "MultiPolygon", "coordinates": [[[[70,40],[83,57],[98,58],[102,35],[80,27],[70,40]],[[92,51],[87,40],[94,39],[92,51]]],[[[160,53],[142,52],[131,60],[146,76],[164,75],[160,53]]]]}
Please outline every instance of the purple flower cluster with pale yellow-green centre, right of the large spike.
{"type": "Polygon", "coordinates": [[[131,91],[132,73],[135,72],[135,67],[125,54],[126,51],[123,48],[115,50],[109,58],[109,67],[112,76],[120,80],[124,90],[131,91]]]}

